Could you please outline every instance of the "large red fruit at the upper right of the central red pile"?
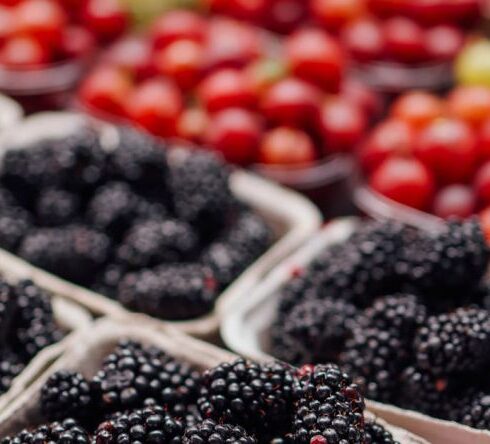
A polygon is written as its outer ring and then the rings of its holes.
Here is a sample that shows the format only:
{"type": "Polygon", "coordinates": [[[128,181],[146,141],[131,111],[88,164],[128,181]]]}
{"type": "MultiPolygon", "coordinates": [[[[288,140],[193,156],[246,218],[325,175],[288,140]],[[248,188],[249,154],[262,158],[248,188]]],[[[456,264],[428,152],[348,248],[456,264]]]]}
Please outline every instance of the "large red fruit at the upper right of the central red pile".
{"type": "Polygon", "coordinates": [[[344,73],[344,54],[336,40],[317,29],[296,31],[286,40],[286,56],[297,77],[336,92],[344,73]]]}

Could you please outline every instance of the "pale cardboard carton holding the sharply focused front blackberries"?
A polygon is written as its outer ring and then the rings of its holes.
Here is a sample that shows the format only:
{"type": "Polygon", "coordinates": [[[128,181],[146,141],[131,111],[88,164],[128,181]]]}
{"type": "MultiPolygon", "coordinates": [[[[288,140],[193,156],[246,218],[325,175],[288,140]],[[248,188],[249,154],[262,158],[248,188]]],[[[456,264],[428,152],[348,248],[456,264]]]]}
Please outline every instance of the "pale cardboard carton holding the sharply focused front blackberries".
{"type": "MultiPolygon", "coordinates": [[[[129,319],[128,319],[129,321],[129,319]]],[[[198,370],[205,370],[222,362],[232,362],[236,355],[210,344],[190,338],[175,329],[155,330],[139,326],[141,317],[134,315],[132,322],[118,322],[100,319],[93,328],[80,331],[67,344],[65,352],[49,367],[28,390],[0,413],[0,438],[17,433],[23,428],[35,426],[42,420],[39,410],[39,394],[44,382],[57,370],[76,370],[85,377],[92,377],[121,339],[131,339],[143,345],[156,346],[170,356],[189,363],[198,370]]],[[[374,417],[371,412],[368,417],[374,417]]],[[[386,424],[383,424],[400,444],[428,444],[417,436],[386,424]]]]}

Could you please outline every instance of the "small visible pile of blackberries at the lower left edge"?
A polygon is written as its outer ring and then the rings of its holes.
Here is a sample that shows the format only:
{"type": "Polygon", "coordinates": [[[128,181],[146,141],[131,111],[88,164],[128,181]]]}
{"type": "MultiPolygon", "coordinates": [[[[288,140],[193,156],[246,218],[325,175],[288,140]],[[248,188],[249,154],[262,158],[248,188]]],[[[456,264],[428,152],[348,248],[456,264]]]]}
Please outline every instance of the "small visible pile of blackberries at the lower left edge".
{"type": "Polygon", "coordinates": [[[11,285],[0,277],[0,394],[43,348],[63,336],[45,291],[31,281],[11,285]]]}

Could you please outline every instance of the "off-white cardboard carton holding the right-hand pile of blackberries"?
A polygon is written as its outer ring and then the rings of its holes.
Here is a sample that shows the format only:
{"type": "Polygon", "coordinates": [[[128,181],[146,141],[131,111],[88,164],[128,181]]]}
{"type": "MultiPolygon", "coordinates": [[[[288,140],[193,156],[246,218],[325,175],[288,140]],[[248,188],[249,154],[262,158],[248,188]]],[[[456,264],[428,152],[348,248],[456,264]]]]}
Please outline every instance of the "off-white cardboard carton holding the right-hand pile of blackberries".
{"type": "MultiPolygon", "coordinates": [[[[352,217],[339,218],[325,225],[303,247],[270,272],[245,304],[229,307],[220,327],[225,345],[235,353],[255,361],[271,360],[268,331],[279,303],[278,290],[289,281],[295,270],[308,265],[327,246],[346,240],[361,223],[360,219],[352,217]]],[[[368,400],[367,406],[390,424],[409,430],[432,443],[490,444],[489,431],[379,402],[368,400]]]]}

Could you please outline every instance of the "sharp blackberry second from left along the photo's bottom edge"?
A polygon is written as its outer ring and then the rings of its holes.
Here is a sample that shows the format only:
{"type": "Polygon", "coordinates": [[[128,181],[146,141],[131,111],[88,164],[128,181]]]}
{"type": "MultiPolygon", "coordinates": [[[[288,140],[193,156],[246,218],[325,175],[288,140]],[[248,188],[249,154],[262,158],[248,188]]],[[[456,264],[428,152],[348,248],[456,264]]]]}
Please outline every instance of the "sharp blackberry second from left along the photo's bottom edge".
{"type": "Polygon", "coordinates": [[[95,431],[96,444],[182,442],[184,424],[162,407],[153,405],[126,413],[117,413],[95,431]]]}

